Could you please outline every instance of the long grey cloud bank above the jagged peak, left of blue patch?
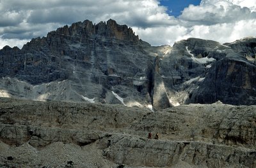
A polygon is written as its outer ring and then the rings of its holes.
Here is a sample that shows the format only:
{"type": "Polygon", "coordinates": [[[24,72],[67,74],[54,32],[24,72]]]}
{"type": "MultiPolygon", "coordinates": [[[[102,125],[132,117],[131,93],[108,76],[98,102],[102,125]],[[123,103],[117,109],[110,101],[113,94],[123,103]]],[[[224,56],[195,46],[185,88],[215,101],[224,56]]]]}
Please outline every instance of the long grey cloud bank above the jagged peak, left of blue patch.
{"type": "Polygon", "coordinates": [[[178,24],[159,4],[157,0],[1,0],[0,33],[2,39],[31,39],[86,19],[96,23],[114,19],[143,28],[178,24]]]}

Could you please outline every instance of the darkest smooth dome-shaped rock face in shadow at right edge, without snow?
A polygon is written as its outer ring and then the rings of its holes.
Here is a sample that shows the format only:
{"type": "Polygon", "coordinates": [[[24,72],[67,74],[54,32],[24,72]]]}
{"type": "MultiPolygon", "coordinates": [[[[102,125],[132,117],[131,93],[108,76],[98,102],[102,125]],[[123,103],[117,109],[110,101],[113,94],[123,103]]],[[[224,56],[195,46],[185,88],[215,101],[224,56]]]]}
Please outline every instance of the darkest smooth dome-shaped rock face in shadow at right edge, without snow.
{"type": "Polygon", "coordinates": [[[188,102],[212,103],[220,100],[228,104],[254,105],[256,67],[243,58],[225,58],[211,70],[188,102]],[[208,86],[208,87],[205,87],[208,86]]]}

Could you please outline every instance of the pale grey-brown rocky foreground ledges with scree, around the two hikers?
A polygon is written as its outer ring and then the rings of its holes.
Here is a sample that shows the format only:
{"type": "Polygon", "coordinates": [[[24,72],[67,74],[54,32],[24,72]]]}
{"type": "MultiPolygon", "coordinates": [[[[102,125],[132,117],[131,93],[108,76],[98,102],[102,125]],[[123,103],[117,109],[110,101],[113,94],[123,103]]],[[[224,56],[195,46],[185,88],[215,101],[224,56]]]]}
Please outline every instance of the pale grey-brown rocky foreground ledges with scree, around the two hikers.
{"type": "Polygon", "coordinates": [[[0,98],[0,167],[256,167],[255,130],[255,105],[152,112],[0,98]]]}

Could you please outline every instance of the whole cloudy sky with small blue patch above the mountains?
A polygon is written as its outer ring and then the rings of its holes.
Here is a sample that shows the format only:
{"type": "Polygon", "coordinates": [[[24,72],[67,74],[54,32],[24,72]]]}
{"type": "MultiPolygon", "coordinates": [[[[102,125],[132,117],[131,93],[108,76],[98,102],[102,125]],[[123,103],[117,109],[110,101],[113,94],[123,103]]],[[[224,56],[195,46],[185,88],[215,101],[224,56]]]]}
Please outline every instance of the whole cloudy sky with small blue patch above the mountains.
{"type": "Polygon", "coordinates": [[[151,45],[256,36],[256,0],[0,0],[0,49],[91,20],[126,24],[151,45]]]}

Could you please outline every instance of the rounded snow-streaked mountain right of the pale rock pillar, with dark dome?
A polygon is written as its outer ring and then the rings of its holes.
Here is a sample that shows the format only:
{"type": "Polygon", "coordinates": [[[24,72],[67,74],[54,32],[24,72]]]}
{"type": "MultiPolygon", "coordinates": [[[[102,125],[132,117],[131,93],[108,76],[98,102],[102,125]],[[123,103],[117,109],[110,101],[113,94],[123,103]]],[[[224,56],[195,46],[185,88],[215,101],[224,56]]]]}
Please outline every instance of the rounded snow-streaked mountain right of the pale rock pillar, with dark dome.
{"type": "Polygon", "coordinates": [[[254,44],[253,38],[230,46],[195,38],[175,43],[160,65],[170,100],[174,103],[220,100],[234,105],[255,104],[256,66],[251,59],[254,44]]]}

